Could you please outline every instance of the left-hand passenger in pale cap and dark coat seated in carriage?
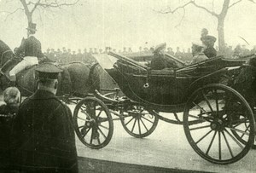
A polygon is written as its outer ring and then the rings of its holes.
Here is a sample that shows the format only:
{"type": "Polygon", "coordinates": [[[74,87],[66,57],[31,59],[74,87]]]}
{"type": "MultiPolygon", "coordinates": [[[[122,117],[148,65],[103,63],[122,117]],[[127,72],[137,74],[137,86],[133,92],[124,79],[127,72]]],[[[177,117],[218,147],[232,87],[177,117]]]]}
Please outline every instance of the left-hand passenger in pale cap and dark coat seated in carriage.
{"type": "Polygon", "coordinates": [[[162,70],[164,68],[177,68],[175,63],[165,57],[164,49],[166,49],[166,43],[161,43],[156,46],[153,51],[153,59],[151,61],[152,70],[162,70]]]}

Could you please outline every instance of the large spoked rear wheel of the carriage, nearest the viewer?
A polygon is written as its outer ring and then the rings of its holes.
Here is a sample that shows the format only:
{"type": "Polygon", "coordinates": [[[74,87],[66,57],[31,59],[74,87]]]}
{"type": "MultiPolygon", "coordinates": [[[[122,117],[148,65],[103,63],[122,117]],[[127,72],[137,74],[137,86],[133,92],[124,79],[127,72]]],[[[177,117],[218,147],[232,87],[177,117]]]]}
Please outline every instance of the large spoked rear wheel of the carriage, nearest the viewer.
{"type": "Polygon", "coordinates": [[[189,144],[212,163],[234,163],[253,145],[252,110],[236,90],[227,86],[213,84],[198,89],[188,101],[184,121],[189,144]],[[203,122],[188,124],[191,119],[203,122]]]}

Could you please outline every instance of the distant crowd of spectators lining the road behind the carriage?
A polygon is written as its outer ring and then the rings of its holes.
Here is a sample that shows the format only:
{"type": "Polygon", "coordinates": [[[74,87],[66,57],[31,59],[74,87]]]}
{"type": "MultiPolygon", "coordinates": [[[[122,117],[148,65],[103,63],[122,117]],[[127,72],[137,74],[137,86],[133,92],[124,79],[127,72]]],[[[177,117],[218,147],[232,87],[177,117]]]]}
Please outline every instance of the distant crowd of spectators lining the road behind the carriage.
{"type": "MultiPolygon", "coordinates": [[[[215,49],[217,50],[217,55],[224,55],[224,57],[226,58],[232,58],[232,57],[237,57],[237,56],[245,56],[245,55],[251,55],[251,54],[256,54],[256,46],[253,47],[253,49],[247,49],[246,45],[241,45],[238,44],[236,46],[235,49],[233,49],[232,46],[226,45],[224,48],[224,51],[220,52],[218,50],[218,46],[215,47],[215,49]]],[[[129,54],[129,53],[134,53],[134,52],[153,52],[154,48],[150,48],[148,49],[147,47],[142,48],[139,47],[139,49],[137,50],[132,50],[131,48],[126,49],[123,48],[123,50],[118,50],[117,49],[112,49],[110,47],[104,49],[84,49],[82,51],[82,49],[78,49],[76,50],[72,50],[72,49],[66,49],[65,47],[63,47],[62,49],[47,49],[44,52],[44,55],[46,55],[50,60],[52,61],[59,61],[59,62],[63,62],[63,63],[67,63],[70,61],[84,61],[87,63],[90,62],[94,62],[94,58],[91,55],[95,55],[95,54],[106,54],[109,51],[113,51],[119,54],[129,54]]],[[[173,55],[177,58],[179,58],[182,61],[191,61],[193,58],[191,49],[180,49],[180,47],[177,47],[176,50],[173,50],[172,47],[167,47],[166,48],[166,53],[169,55],[173,55]]]]}

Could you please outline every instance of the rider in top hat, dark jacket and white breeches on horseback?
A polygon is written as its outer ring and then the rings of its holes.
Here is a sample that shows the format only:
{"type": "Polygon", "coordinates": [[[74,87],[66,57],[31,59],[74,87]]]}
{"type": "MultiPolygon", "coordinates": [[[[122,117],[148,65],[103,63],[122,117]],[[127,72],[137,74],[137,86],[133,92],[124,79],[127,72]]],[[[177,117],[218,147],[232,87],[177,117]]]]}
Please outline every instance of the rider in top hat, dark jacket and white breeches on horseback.
{"type": "Polygon", "coordinates": [[[16,81],[16,74],[24,70],[27,66],[33,66],[38,64],[38,58],[43,58],[44,54],[41,50],[40,41],[33,36],[36,33],[36,24],[29,23],[27,29],[28,37],[26,39],[22,39],[20,48],[17,49],[16,54],[20,55],[24,52],[25,57],[22,61],[20,61],[10,72],[10,80],[12,83],[16,81]]]}

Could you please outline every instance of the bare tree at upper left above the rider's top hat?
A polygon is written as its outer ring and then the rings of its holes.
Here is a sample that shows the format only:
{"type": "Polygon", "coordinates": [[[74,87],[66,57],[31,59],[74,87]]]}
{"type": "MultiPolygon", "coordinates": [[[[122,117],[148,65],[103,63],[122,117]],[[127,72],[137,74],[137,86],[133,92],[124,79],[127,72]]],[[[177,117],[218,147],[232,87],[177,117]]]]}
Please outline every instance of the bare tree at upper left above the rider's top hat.
{"type": "Polygon", "coordinates": [[[6,19],[15,14],[17,11],[23,10],[26,14],[27,22],[30,23],[33,21],[33,14],[36,9],[61,9],[64,6],[73,6],[79,3],[80,0],[20,0],[20,7],[15,9],[12,12],[4,11],[7,13],[6,19]],[[68,3],[67,3],[68,2],[68,3]]]}

